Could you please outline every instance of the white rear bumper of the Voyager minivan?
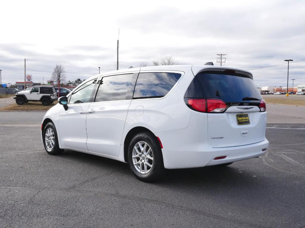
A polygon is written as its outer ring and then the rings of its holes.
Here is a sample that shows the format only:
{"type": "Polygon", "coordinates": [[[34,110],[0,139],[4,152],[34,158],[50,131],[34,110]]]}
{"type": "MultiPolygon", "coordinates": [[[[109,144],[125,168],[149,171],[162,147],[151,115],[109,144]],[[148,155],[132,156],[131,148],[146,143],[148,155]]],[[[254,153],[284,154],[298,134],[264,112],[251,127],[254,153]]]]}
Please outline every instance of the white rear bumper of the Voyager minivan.
{"type": "Polygon", "coordinates": [[[265,139],[262,142],[236,147],[209,147],[193,151],[163,151],[164,167],[167,169],[196,168],[242,161],[264,155],[267,152],[264,149],[267,149],[268,146],[269,141],[265,139]],[[227,157],[214,160],[215,157],[221,156],[227,157]]]}

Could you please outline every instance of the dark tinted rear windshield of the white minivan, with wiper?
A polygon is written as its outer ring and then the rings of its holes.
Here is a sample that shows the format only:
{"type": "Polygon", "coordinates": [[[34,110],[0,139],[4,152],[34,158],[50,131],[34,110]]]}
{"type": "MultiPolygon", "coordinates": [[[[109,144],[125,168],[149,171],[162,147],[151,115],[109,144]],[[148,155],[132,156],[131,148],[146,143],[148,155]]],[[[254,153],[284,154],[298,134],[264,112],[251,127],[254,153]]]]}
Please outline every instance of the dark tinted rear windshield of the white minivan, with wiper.
{"type": "Polygon", "coordinates": [[[205,98],[225,102],[260,102],[262,96],[253,80],[244,74],[203,71],[196,75],[205,98]]]}

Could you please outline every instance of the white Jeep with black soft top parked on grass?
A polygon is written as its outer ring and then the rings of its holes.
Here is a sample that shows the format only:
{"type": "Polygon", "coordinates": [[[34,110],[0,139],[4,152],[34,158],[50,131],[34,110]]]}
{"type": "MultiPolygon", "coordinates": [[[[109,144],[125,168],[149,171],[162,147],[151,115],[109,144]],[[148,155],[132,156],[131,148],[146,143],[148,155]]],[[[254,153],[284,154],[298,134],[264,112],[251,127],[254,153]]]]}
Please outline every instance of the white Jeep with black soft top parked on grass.
{"type": "Polygon", "coordinates": [[[51,85],[36,85],[30,90],[17,92],[14,96],[17,105],[23,105],[28,101],[40,101],[43,105],[50,105],[57,100],[55,87],[51,85]]]}

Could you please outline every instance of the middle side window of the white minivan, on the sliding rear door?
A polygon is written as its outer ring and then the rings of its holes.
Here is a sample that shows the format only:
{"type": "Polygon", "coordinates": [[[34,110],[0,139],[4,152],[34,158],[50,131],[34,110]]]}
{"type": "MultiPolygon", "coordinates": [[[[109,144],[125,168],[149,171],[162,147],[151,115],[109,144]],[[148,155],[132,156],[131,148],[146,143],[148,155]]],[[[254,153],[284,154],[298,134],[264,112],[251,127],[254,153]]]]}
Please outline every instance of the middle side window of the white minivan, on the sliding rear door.
{"type": "Polygon", "coordinates": [[[96,93],[95,102],[125,100],[133,74],[119,74],[103,77],[96,93]]]}

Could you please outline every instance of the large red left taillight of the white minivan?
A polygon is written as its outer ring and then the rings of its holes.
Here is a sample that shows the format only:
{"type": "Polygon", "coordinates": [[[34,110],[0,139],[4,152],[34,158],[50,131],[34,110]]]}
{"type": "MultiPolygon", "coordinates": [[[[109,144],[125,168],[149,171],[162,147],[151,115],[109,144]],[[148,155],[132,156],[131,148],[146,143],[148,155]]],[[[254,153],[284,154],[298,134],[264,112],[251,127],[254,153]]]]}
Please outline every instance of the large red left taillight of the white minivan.
{"type": "Polygon", "coordinates": [[[189,108],[199,112],[219,113],[227,109],[227,105],[220,99],[191,99],[185,98],[189,108]]]}

